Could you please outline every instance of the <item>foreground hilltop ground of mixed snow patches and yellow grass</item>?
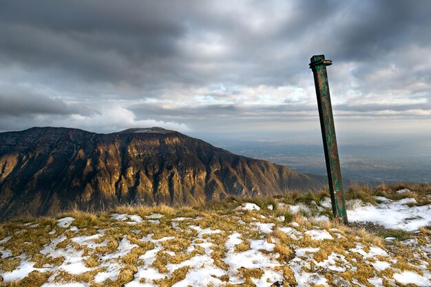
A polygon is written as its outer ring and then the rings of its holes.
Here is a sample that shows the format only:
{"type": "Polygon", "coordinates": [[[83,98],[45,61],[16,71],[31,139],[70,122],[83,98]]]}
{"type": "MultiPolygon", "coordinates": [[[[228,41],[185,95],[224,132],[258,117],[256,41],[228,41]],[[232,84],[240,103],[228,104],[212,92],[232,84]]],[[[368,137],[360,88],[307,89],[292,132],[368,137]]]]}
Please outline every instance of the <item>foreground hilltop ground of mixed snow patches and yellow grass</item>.
{"type": "Polygon", "coordinates": [[[326,222],[330,200],[231,211],[111,213],[9,222],[2,284],[19,286],[431,286],[431,206],[349,204],[351,222],[411,231],[385,242],[326,222]],[[286,222],[287,213],[297,213],[286,222]],[[306,217],[304,217],[306,216],[306,217]],[[308,217],[308,219],[307,219],[308,217]]]}

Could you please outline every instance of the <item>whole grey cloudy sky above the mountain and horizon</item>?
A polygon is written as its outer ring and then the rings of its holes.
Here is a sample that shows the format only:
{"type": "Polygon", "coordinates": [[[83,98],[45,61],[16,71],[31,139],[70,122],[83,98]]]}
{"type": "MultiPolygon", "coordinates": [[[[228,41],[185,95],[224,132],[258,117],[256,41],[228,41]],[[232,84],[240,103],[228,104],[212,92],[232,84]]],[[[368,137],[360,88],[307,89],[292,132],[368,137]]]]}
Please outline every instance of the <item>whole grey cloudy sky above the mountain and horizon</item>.
{"type": "Polygon", "coordinates": [[[431,1],[3,1],[0,130],[431,131],[431,1]]]}

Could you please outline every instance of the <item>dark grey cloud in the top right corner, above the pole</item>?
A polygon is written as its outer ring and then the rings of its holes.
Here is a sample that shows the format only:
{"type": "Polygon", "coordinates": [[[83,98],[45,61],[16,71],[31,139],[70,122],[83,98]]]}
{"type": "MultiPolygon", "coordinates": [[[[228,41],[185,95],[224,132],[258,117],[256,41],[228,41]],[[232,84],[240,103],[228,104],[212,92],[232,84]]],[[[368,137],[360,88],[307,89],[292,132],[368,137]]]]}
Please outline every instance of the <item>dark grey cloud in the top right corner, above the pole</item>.
{"type": "Polygon", "coordinates": [[[335,30],[340,59],[376,60],[412,43],[430,45],[429,1],[415,1],[414,5],[403,0],[357,4],[343,13],[346,25],[335,30]]]}

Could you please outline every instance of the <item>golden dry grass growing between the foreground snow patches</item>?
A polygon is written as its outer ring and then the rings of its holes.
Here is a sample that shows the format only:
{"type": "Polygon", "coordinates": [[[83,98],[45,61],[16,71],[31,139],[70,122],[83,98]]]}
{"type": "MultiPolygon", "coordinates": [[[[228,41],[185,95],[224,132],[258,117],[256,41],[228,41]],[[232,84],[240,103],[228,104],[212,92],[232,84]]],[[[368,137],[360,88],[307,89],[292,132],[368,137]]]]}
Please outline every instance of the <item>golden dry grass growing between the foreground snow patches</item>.
{"type": "MultiPolygon", "coordinates": [[[[390,199],[401,199],[401,198],[415,198],[418,204],[424,204],[428,202],[426,195],[431,193],[430,185],[423,184],[398,184],[396,186],[386,186],[381,184],[379,187],[372,189],[363,185],[354,185],[346,191],[346,200],[360,199],[364,202],[370,202],[372,204],[376,203],[375,196],[384,196],[390,199]],[[410,192],[397,193],[399,189],[408,188],[410,192]]],[[[103,211],[101,213],[95,213],[92,211],[79,211],[78,209],[73,209],[64,213],[59,214],[56,218],[52,217],[39,217],[30,218],[25,217],[20,220],[15,220],[13,222],[5,222],[0,224],[0,239],[12,236],[13,239],[10,242],[3,244],[4,248],[10,249],[13,256],[18,256],[22,253],[30,255],[28,259],[32,262],[36,262],[35,267],[41,268],[44,264],[52,264],[54,266],[59,266],[63,263],[63,258],[53,259],[52,257],[41,255],[39,251],[48,244],[54,237],[59,236],[63,233],[67,239],[59,243],[57,248],[65,248],[69,245],[75,246],[77,249],[84,251],[84,255],[89,255],[85,259],[85,265],[89,268],[95,268],[94,270],[83,273],[81,275],[72,276],[67,273],[61,273],[56,281],[92,281],[94,275],[98,273],[101,269],[98,268],[100,262],[98,259],[102,255],[109,253],[114,253],[118,249],[118,242],[123,240],[124,237],[129,240],[132,244],[136,244],[138,247],[134,247],[132,252],[128,253],[124,257],[119,259],[120,264],[123,264],[120,270],[120,275],[116,281],[105,281],[104,284],[97,285],[92,284],[92,286],[123,286],[128,281],[134,279],[137,273],[138,266],[143,264],[139,259],[140,255],[143,255],[146,251],[155,248],[155,244],[151,242],[143,242],[140,239],[149,234],[153,234],[153,239],[157,240],[162,237],[175,237],[173,240],[167,240],[160,242],[162,246],[162,251],[156,254],[156,259],[152,266],[156,268],[160,273],[166,273],[167,277],[164,279],[156,280],[155,283],[159,286],[172,286],[178,281],[185,278],[189,272],[190,266],[185,266],[174,271],[174,273],[169,274],[167,270],[167,264],[180,264],[185,262],[187,259],[191,259],[196,255],[206,254],[204,248],[196,245],[202,244],[204,242],[211,242],[213,244],[211,248],[211,258],[214,260],[215,266],[222,268],[223,270],[229,270],[229,266],[224,262],[227,255],[226,242],[229,234],[233,232],[238,232],[242,235],[242,242],[235,246],[235,253],[242,253],[244,251],[249,251],[251,249],[251,240],[264,239],[268,242],[275,244],[275,249],[271,253],[276,253],[278,262],[282,264],[280,270],[284,274],[284,285],[288,284],[294,285],[295,277],[293,275],[293,270],[288,267],[288,263],[295,257],[295,248],[300,247],[318,247],[313,258],[317,262],[322,262],[328,259],[331,253],[335,252],[340,255],[344,255],[349,264],[355,266],[357,270],[353,272],[352,270],[346,270],[343,273],[337,273],[339,277],[347,280],[356,278],[361,284],[368,285],[367,279],[375,276],[375,269],[367,264],[362,259],[361,255],[358,253],[350,252],[346,253],[348,249],[355,248],[357,242],[363,244],[364,250],[369,251],[370,246],[379,246],[386,250],[386,243],[383,242],[382,238],[392,236],[396,237],[398,240],[404,240],[408,237],[418,237],[420,242],[425,242],[424,237],[430,236],[431,231],[428,227],[421,228],[421,233],[412,234],[406,233],[405,231],[399,230],[388,230],[382,233],[372,234],[361,228],[354,228],[351,226],[346,226],[341,222],[331,220],[330,222],[314,222],[310,220],[309,215],[304,213],[293,214],[291,210],[285,204],[298,204],[304,203],[310,206],[312,215],[317,215],[317,210],[319,209],[319,214],[331,215],[330,209],[320,208],[320,204],[324,198],[328,197],[328,191],[318,191],[315,193],[299,193],[297,191],[289,193],[286,195],[277,195],[275,197],[262,197],[262,198],[236,198],[231,197],[221,202],[209,202],[206,206],[191,207],[186,206],[178,209],[174,209],[170,206],[133,206],[131,204],[125,204],[122,206],[112,209],[112,211],[103,211]],[[240,206],[244,202],[253,202],[260,206],[260,211],[240,211],[235,210],[236,207],[240,206]],[[313,203],[315,202],[315,204],[313,203]],[[283,204],[281,204],[283,203],[283,204]],[[274,209],[269,210],[267,206],[273,205],[274,209]],[[145,216],[151,213],[160,213],[164,217],[160,218],[160,224],[150,224],[149,222],[141,222],[139,224],[130,225],[125,222],[117,222],[112,220],[110,214],[115,213],[129,213],[137,214],[145,218],[145,216]],[[72,237],[76,236],[76,233],[72,231],[66,231],[65,228],[59,228],[56,226],[56,219],[60,217],[70,216],[74,217],[73,226],[76,226],[80,231],[80,235],[92,235],[98,231],[98,229],[106,229],[103,236],[96,240],[96,243],[101,243],[104,240],[107,241],[107,246],[99,246],[92,253],[90,248],[85,248],[83,246],[78,246],[72,242],[72,237]],[[277,220],[277,217],[284,216],[284,222],[277,220]],[[171,225],[171,220],[174,217],[191,217],[189,220],[177,221],[176,226],[180,229],[175,229],[171,225]],[[257,227],[253,228],[253,222],[260,221],[262,223],[273,223],[275,224],[273,228],[273,233],[271,235],[264,235],[257,230],[257,227]],[[23,224],[26,222],[34,222],[39,224],[36,228],[30,228],[23,224]],[[339,233],[342,237],[338,240],[324,240],[317,241],[312,240],[310,236],[304,235],[298,240],[293,240],[292,237],[286,235],[286,233],[278,230],[278,227],[289,226],[291,222],[296,222],[298,226],[294,228],[299,232],[304,232],[307,230],[322,228],[328,231],[335,238],[335,233],[339,233]],[[215,233],[211,235],[203,235],[201,239],[197,239],[198,233],[189,228],[190,225],[200,226],[200,228],[211,228],[212,230],[219,229],[220,233],[215,233]],[[56,233],[53,235],[48,235],[52,229],[56,229],[56,233]],[[337,231],[334,231],[336,228],[337,231]],[[182,230],[181,230],[182,229],[182,230]],[[21,232],[25,230],[24,232],[21,232]],[[133,232],[132,232],[133,231],[133,232]],[[20,233],[21,232],[21,233],[20,233]],[[30,242],[26,244],[25,242],[30,242]],[[192,252],[187,252],[187,248],[194,245],[195,249],[192,252]],[[165,252],[167,251],[167,252],[165,252]],[[172,253],[173,252],[173,253],[172,253]],[[175,253],[175,254],[174,254],[175,253]],[[356,260],[356,262],[354,261],[356,260]],[[169,276],[168,276],[169,275],[169,276]]],[[[429,197],[428,197],[429,198],[429,197]]],[[[393,265],[401,270],[414,270],[415,272],[421,274],[418,268],[412,266],[411,258],[414,254],[410,249],[406,250],[405,246],[400,245],[395,242],[391,245],[394,248],[391,252],[397,259],[397,264],[393,265]]],[[[265,252],[263,252],[265,253],[265,252]]],[[[387,260],[386,258],[379,258],[381,260],[387,260]]],[[[15,259],[0,259],[0,268],[4,271],[14,270],[20,263],[19,258],[15,259]]],[[[311,269],[317,268],[311,264],[311,269]]],[[[318,268],[316,269],[318,270],[318,268]]],[[[381,274],[390,276],[391,272],[386,270],[381,274]]],[[[260,278],[263,274],[263,270],[256,269],[246,269],[241,268],[239,270],[240,276],[243,277],[245,283],[242,286],[253,286],[253,278],[260,278]]],[[[30,277],[23,279],[21,281],[12,282],[8,286],[41,286],[45,282],[50,273],[38,273],[34,272],[30,274],[30,277]],[[30,279],[32,281],[30,281],[30,279]],[[36,285],[31,285],[30,282],[34,282],[36,285]]],[[[333,280],[333,274],[326,274],[328,281],[333,280]]],[[[229,275],[225,275],[220,278],[222,281],[229,281],[229,275]]],[[[0,286],[5,286],[4,284],[0,286]]]]}

